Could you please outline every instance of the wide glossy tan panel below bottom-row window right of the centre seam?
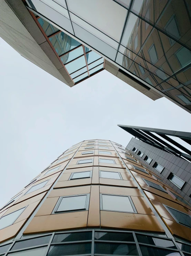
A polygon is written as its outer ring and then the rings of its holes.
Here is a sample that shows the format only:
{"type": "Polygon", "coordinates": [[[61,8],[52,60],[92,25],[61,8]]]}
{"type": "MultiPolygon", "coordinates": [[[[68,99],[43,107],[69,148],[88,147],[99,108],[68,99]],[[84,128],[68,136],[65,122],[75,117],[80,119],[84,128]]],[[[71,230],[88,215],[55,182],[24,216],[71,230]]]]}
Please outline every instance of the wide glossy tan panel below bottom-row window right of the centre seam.
{"type": "Polygon", "coordinates": [[[164,232],[153,215],[101,211],[101,228],[164,232]]]}

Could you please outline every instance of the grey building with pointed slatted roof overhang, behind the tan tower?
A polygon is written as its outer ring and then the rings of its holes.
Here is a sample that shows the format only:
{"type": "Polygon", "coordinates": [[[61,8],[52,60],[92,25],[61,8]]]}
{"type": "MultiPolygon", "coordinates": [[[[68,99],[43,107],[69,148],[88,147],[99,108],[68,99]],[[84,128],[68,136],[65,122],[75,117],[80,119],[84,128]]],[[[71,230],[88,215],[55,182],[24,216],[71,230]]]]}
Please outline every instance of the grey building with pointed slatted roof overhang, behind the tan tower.
{"type": "Polygon", "coordinates": [[[182,202],[191,205],[191,133],[118,126],[135,137],[126,149],[180,194],[182,202]]]}

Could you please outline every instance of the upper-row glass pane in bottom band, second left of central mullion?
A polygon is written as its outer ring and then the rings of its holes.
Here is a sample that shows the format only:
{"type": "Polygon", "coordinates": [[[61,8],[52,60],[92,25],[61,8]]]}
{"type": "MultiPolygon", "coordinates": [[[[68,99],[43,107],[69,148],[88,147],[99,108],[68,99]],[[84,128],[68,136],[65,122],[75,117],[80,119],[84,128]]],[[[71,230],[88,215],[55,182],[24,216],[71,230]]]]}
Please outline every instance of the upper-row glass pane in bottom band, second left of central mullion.
{"type": "Polygon", "coordinates": [[[22,241],[16,242],[11,248],[11,250],[18,250],[18,249],[27,248],[27,247],[48,244],[50,241],[50,238],[51,236],[45,236],[45,237],[32,238],[28,240],[22,240],[22,241]]]}

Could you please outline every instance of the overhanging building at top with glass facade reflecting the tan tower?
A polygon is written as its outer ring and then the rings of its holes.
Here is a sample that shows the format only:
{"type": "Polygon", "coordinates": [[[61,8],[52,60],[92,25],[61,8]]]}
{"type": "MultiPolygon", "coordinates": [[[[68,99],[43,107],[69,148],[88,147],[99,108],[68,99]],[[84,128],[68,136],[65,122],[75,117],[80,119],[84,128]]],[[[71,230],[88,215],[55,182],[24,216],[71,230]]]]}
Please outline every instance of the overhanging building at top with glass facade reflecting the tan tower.
{"type": "Polygon", "coordinates": [[[190,0],[1,0],[0,36],[70,87],[103,69],[191,113],[190,0]]]}

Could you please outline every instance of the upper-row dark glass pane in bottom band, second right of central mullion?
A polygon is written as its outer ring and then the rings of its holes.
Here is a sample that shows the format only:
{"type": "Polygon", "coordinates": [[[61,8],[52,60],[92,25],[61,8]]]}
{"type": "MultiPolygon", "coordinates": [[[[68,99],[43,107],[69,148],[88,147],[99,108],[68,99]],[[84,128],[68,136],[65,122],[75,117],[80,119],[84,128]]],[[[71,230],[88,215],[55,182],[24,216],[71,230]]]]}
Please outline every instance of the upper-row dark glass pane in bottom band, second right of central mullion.
{"type": "Polygon", "coordinates": [[[169,248],[176,249],[176,246],[170,240],[160,239],[160,238],[151,237],[151,236],[143,236],[138,234],[136,234],[136,237],[138,242],[143,244],[156,245],[156,246],[169,247],[169,248]]]}

